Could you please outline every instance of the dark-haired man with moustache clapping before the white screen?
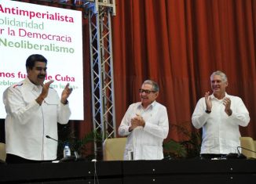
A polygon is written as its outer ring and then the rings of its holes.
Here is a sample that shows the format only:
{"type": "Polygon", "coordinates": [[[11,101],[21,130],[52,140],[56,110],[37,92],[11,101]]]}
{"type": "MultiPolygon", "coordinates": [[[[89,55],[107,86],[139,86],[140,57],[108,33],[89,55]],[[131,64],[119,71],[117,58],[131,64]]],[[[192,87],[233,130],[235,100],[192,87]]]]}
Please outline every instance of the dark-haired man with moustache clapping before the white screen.
{"type": "Polygon", "coordinates": [[[3,95],[5,111],[6,162],[9,164],[53,161],[57,158],[57,122],[67,124],[71,115],[64,88],[61,98],[44,84],[47,60],[34,54],[27,58],[27,78],[7,88],[3,95]]]}

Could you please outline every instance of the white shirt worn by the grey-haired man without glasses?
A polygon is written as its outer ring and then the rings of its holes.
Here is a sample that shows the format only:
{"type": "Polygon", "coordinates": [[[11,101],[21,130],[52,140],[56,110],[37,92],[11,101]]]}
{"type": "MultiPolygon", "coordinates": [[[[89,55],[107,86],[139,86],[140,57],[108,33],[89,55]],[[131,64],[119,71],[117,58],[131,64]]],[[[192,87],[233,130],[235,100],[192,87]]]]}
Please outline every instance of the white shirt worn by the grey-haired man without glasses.
{"type": "Polygon", "coordinates": [[[231,99],[231,116],[225,113],[223,99],[217,99],[213,94],[210,96],[212,102],[210,114],[205,112],[207,107],[204,97],[196,104],[192,114],[192,124],[195,128],[203,127],[201,153],[237,153],[241,136],[239,126],[247,126],[250,121],[249,112],[240,97],[229,96],[227,93],[225,97],[231,99]]]}

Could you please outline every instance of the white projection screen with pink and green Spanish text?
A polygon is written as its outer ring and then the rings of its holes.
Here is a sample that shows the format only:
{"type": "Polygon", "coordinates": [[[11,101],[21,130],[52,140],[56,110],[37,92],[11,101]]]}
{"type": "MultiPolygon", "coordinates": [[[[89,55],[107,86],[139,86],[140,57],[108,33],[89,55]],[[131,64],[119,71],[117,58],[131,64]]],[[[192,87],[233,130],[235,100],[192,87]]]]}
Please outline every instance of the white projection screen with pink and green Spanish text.
{"type": "Polygon", "coordinates": [[[46,81],[59,95],[69,82],[71,120],[83,120],[82,12],[0,0],[0,118],[5,118],[5,88],[27,76],[31,54],[48,60],[46,81]]]}

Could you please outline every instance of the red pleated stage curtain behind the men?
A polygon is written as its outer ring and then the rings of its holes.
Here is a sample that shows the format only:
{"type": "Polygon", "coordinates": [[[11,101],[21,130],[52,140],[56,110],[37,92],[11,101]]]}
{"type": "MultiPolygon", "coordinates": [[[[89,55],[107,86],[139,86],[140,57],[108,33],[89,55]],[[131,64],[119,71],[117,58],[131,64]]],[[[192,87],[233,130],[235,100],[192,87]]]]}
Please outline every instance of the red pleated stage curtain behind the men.
{"type": "MultiPolygon", "coordinates": [[[[159,83],[158,100],[167,107],[170,124],[196,131],[191,124],[196,102],[210,91],[210,74],[222,70],[229,78],[227,92],[240,96],[250,112],[251,122],[241,133],[256,139],[256,0],[115,2],[117,128],[130,103],[140,100],[142,81],[150,78],[159,83]]],[[[83,56],[85,120],[71,122],[80,137],[93,129],[88,20],[83,22],[83,56]]],[[[170,129],[168,139],[184,137],[170,129]]]]}

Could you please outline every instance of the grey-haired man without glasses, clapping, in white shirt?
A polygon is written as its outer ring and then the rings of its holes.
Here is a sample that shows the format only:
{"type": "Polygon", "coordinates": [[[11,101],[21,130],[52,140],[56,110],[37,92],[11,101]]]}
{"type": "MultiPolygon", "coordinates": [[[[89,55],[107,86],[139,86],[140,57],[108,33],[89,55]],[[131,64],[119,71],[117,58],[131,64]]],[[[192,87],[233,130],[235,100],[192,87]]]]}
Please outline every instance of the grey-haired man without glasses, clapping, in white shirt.
{"type": "Polygon", "coordinates": [[[241,136],[239,126],[246,127],[250,121],[242,99],[225,92],[228,78],[223,72],[218,70],[211,74],[210,85],[213,94],[206,92],[192,114],[195,128],[203,128],[201,157],[206,159],[237,153],[241,136]]]}

